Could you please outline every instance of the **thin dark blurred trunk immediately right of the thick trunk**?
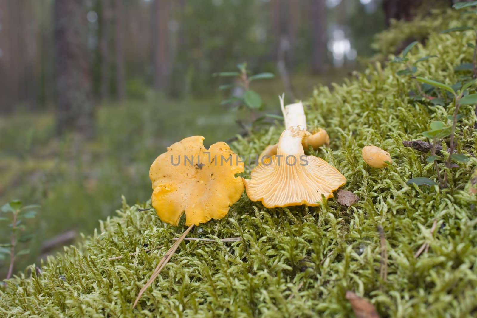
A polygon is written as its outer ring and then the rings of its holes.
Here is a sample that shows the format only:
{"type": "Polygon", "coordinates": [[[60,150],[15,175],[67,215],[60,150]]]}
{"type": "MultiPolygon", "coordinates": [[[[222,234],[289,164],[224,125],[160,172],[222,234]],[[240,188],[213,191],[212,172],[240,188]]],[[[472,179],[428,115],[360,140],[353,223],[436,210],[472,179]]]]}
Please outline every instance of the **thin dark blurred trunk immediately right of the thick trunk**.
{"type": "Polygon", "coordinates": [[[102,0],[102,21],[101,22],[101,100],[109,100],[109,83],[110,83],[110,48],[109,40],[111,36],[111,17],[113,12],[111,12],[111,2],[110,0],[102,0]]]}

